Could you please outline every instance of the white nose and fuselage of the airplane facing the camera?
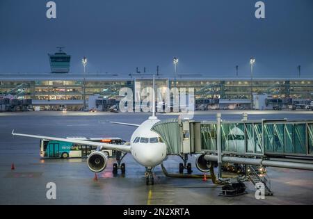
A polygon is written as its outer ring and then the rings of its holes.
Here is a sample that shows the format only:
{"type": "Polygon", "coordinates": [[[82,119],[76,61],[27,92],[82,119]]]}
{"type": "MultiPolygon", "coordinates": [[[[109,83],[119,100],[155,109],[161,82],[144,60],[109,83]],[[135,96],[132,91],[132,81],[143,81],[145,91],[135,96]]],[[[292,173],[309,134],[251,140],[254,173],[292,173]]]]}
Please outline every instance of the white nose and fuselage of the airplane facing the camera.
{"type": "Polygon", "coordinates": [[[135,161],[147,168],[154,168],[166,159],[166,144],[161,141],[159,134],[151,131],[159,121],[157,117],[150,117],[131,136],[131,154],[135,161]]]}

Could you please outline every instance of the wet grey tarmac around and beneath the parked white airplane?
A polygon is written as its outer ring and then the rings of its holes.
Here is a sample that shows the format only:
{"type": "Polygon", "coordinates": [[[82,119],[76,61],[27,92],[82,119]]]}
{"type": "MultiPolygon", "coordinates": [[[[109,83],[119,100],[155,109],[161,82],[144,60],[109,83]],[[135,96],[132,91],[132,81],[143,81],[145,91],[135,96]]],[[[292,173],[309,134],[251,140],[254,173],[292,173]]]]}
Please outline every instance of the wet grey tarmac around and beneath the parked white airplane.
{"type": "MultiPolygon", "coordinates": [[[[313,120],[312,111],[244,111],[248,119],[313,120]]],[[[243,111],[200,111],[194,120],[241,120],[243,111]]],[[[154,172],[154,186],[145,185],[145,168],[127,154],[126,174],[112,174],[114,158],[106,170],[97,175],[90,172],[86,159],[40,159],[39,140],[11,136],[18,133],[43,136],[120,137],[129,140],[135,127],[111,124],[109,121],[140,124],[149,113],[83,113],[83,112],[23,112],[0,113],[0,204],[313,204],[313,172],[267,168],[273,196],[255,199],[255,188],[246,182],[248,194],[220,197],[220,186],[210,179],[166,177],[161,167],[154,172]],[[14,163],[15,170],[11,170],[14,163]],[[47,183],[56,184],[56,199],[46,197],[47,183]]],[[[160,114],[159,119],[177,117],[175,113],[160,114]]],[[[182,160],[169,156],[164,166],[178,173],[182,160]]],[[[195,168],[194,174],[202,174],[195,168]]],[[[187,175],[185,173],[185,175],[187,175]]]]}

